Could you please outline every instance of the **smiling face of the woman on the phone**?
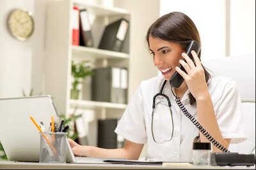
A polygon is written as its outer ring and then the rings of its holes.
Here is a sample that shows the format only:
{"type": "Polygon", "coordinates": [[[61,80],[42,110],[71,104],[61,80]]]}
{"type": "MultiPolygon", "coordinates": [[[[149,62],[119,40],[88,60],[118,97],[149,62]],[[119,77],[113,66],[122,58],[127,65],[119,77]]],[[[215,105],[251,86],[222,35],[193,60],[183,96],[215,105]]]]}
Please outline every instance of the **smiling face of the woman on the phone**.
{"type": "Polygon", "coordinates": [[[164,41],[152,36],[148,39],[150,53],[153,55],[154,66],[163,74],[165,80],[170,80],[175,67],[179,66],[179,60],[183,59],[181,53],[184,52],[178,43],[164,41]]]}

